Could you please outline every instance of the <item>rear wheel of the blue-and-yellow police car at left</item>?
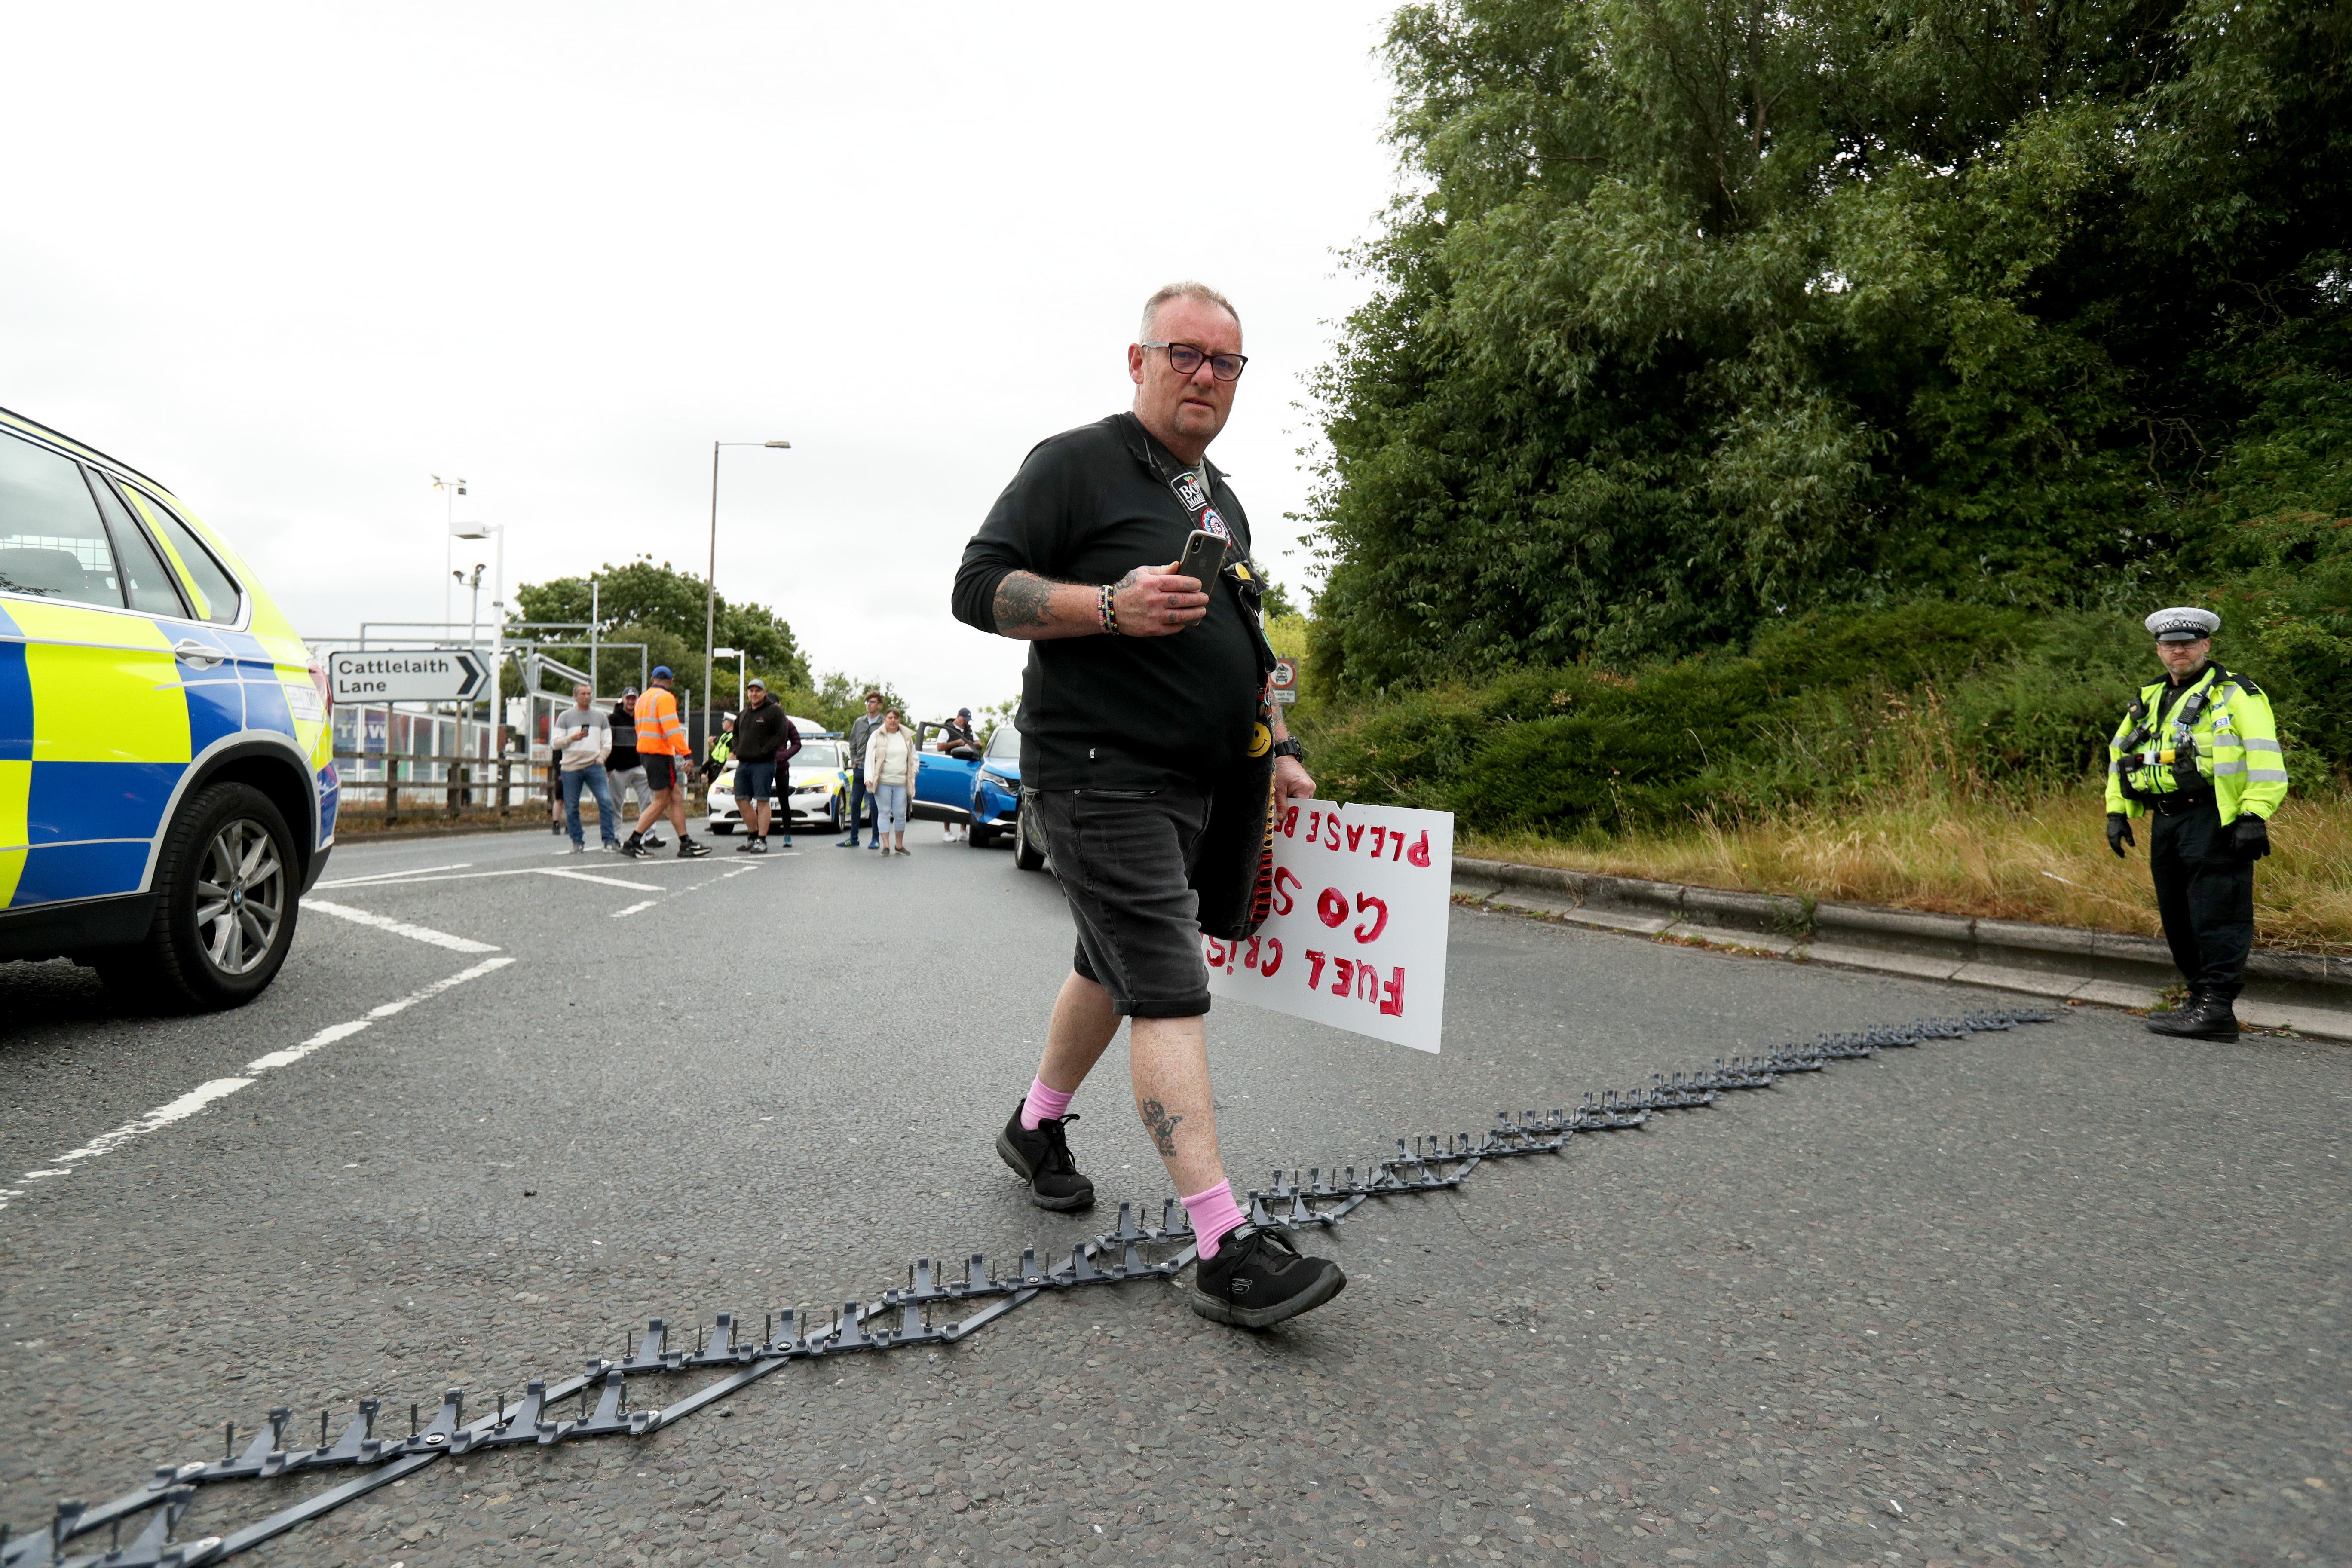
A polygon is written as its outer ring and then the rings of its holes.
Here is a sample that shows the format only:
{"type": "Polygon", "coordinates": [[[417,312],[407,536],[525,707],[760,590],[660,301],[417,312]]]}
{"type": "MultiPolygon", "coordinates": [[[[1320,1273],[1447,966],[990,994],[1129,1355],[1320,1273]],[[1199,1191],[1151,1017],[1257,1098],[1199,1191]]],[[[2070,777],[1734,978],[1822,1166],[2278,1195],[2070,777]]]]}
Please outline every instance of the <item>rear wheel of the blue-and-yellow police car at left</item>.
{"type": "Polygon", "coordinates": [[[299,886],[294,835],[268,795],[240,783],[200,790],[165,832],[155,924],[99,969],[120,994],[245,1006],[287,961],[299,886]]]}

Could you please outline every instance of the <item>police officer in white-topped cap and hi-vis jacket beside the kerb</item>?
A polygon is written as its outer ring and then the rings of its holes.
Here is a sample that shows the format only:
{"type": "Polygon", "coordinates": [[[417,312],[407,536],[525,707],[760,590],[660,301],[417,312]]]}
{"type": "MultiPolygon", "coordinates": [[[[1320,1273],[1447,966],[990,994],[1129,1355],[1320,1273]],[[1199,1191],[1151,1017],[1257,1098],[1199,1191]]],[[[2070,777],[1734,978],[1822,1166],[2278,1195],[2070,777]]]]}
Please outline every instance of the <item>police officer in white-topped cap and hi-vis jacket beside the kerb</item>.
{"type": "Polygon", "coordinates": [[[2286,799],[2286,755],[2270,698],[2213,663],[2220,616],[2159,609],[2147,618],[2166,679],[2143,686],[2107,741],[2107,846],[2152,811],[2147,870],[2190,999],[2150,1013],[2157,1034],[2237,1039],[2232,1001],[2253,947],[2253,863],[2270,853],[2267,818],[2286,799]]]}

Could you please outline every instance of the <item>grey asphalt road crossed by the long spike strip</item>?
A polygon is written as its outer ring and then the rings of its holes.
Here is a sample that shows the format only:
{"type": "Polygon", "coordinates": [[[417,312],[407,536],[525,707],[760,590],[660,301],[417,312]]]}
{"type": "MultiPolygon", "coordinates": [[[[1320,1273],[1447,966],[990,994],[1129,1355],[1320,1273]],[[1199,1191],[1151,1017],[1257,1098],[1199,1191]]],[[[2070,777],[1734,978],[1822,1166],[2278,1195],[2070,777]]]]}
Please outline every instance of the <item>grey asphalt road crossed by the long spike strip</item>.
{"type": "MultiPolygon", "coordinates": [[[[318,898],[496,952],[310,910],[230,1016],[0,969],[0,1519],[216,1458],[230,1420],[242,1448],[270,1406],[315,1436],[372,1394],[400,1436],[409,1401],[480,1408],[630,1321],[1108,1227],[993,1152],[1058,893],[910,837],[346,846],[329,882],[386,879],[318,898]]],[[[2002,1001],[1458,910],[1442,1056],[1223,1006],[1218,1128],[1251,1185],[2002,1001]]],[[[1073,1143],[1157,1211],[1120,1065],[1073,1143]]],[[[1308,1244],[1345,1295],[1265,1335],[1164,1284],[1047,1295],[652,1439],[440,1462],[245,1561],[2340,1563],[2347,1070],[2105,1011],[1837,1065],[1367,1204],[1308,1244]]],[[[315,1486],[207,1488],[181,1537],[315,1486]]]]}

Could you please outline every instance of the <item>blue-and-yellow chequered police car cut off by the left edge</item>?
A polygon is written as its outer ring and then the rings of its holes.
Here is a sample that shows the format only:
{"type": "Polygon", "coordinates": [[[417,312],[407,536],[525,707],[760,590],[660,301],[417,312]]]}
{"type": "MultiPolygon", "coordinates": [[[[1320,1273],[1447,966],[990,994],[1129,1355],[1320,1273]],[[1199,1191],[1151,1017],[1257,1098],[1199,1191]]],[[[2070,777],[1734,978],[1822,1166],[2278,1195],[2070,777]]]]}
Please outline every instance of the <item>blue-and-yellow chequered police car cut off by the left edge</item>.
{"type": "Polygon", "coordinates": [[[327,677],[165,487],[0,409],[0,959],[256,997],[334,844],[327,677]]]}

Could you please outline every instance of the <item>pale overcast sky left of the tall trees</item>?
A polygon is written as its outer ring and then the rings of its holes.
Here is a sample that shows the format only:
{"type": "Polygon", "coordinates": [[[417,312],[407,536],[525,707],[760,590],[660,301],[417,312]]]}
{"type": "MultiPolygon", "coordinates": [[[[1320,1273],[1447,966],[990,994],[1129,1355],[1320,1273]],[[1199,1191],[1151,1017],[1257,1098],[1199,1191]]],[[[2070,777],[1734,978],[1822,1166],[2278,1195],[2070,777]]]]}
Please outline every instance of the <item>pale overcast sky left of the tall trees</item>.
{"type": "Polygon", "coordinates": [[[1388,9],[26,7],[0,404],[169,484],[308,635],[440,618],[433,473],[508,583],[701,571],[710,442],[790,440],[724,458],[720,590],[978,708],[1021,646],[950,618],[962,543],[1127,407],[1160,282],[1242,310],[1214,456],[1303,576],[1296,404],[1395,188],[1388,9]]]}

